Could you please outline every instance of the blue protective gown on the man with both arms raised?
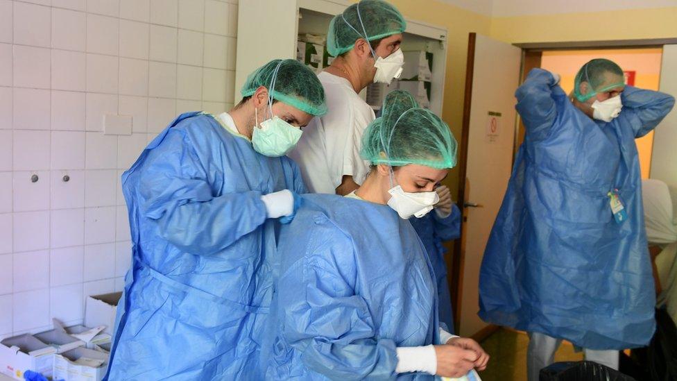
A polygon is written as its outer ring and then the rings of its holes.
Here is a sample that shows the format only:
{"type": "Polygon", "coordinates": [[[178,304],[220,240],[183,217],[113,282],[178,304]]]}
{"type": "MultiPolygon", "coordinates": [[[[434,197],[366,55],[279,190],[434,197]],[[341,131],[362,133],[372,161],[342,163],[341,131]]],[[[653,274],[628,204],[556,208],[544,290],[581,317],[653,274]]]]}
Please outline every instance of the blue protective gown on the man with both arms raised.
{"type": "Polygon", "coordinates": [[[626,86],[619,117],[596,121],[541,69],[515,95],[526,136],[484,253],[479,316],[583,348],[644,346],[655,294],[635,137],[674,98],[626,86]],[[612,189],[628,214],[622,223],[612,189]]]}

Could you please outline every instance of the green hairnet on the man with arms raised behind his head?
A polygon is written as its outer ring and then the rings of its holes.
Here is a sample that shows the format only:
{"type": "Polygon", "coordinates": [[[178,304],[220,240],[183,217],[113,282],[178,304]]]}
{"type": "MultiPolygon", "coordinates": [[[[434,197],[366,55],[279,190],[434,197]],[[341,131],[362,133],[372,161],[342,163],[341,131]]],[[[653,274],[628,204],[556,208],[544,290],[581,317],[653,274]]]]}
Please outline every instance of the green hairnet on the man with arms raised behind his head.
{"type": "Polygon", "coordinates": [[[619,86],[625,86],[623,69],[611,60],[595,58],[583,65],[576,74],[574,95],[579,101],[585,102],[600,92],[606,92],[619,86]],[[620,77],[620,81],[618,81],[618,77],[620,77]],[[589,84],[590,91],[587,94],[581,94],[581,82],[589,84]]]}

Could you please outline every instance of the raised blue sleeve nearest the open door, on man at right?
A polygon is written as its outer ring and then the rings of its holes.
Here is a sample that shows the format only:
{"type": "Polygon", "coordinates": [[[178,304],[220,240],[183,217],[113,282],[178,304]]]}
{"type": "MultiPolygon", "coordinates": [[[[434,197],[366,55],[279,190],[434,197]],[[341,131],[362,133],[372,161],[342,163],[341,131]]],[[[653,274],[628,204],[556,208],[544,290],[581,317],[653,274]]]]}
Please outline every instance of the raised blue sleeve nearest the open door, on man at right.
{"type": "Polygon", "coordinates": [[[557,117],[557,107],[552,97],[555,78],[549,71],[532,69],[526,81],[517,88],[515,109],[520,113],[526,134],[534,141],[545,139],[557,117]]]}

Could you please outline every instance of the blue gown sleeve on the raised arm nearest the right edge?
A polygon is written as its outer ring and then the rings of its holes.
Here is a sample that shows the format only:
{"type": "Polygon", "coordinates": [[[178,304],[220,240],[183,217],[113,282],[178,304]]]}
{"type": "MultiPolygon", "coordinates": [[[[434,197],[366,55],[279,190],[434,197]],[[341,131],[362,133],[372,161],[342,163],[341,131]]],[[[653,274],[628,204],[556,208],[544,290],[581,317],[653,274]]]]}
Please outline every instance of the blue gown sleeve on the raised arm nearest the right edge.
{"type": "Polygon", "coordinates": [[[635,137],[642,137],[658,126],[660,121],[672,110],[675,104],[673,96],[651,90],[626,86],[621,93],[622,119],[628,121],[635,137]]]}

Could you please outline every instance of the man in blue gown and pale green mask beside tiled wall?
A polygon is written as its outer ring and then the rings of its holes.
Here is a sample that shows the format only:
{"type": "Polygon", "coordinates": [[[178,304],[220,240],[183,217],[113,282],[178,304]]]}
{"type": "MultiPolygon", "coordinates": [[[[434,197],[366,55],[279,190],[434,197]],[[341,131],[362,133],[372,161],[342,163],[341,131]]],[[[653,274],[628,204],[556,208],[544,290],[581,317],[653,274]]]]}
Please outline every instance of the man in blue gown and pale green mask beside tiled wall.
{"type": "Polygon", "coordinates": [[[260,67],[241,94],[230,112],[180,115],[123,174],[133,261],[109,380],[260,378],[277,221],[305,192],[284,154],[325,100],[295,60],[260,67]]]}

